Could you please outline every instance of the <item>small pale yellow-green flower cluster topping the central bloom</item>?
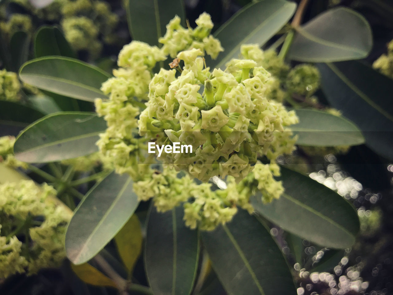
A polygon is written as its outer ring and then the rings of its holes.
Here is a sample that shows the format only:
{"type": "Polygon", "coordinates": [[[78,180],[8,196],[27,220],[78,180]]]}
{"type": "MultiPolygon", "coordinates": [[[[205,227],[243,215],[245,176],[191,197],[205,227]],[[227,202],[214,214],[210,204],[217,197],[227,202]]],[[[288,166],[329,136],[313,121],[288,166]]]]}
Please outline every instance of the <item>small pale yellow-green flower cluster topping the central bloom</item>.
{"type": "Polygon", "coordinates": [[[177,53],[191,48],[200,49],[204,53],[216,59],[220,52],[224,51],[219,40],[210,35],[213,22],[208,13],[202,13],[196,20],[195,29],[185,29],[180,24],[180,17],[176,15],[169,24],[164,37],[158,39],[162,43],[162,51],[165,55],[176,57],[177,53]]]}

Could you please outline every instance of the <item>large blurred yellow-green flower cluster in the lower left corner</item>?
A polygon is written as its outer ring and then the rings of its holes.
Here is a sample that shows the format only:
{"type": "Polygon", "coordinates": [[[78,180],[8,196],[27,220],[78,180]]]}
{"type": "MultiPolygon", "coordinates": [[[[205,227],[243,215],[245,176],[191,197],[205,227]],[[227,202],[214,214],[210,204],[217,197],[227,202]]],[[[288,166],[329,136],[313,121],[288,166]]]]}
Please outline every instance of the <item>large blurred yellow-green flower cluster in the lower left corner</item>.
{"type": "Polygon", "coordinates": [[[0,185],[0,278],[58,267],[72,212],[47,184],[24,180],[0,185]]]}

